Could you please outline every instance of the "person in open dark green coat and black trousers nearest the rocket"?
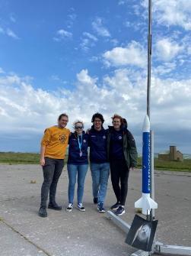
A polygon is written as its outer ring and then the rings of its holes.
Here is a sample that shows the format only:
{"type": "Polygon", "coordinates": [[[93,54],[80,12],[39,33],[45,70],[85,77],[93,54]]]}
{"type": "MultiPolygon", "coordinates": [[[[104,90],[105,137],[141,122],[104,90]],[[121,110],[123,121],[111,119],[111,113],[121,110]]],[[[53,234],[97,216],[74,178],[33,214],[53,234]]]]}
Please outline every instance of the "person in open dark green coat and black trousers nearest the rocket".
{"type": "Polygon", "coordinates": [[[116,114],[112,120],[113,126],[107,130],[107,155],[110,159],[111,182],[116,203],[111,209],[116,210],[116,215],[122,215],[125,213],[129,170],[136,167],[138,154],[135,139],[126,128],[127,123],[124,125],[123,118],[116,114]]]}

